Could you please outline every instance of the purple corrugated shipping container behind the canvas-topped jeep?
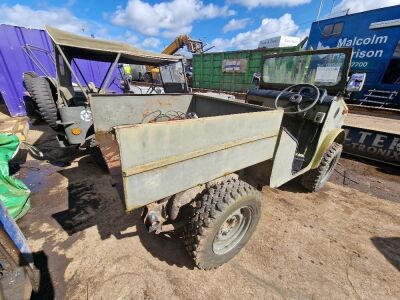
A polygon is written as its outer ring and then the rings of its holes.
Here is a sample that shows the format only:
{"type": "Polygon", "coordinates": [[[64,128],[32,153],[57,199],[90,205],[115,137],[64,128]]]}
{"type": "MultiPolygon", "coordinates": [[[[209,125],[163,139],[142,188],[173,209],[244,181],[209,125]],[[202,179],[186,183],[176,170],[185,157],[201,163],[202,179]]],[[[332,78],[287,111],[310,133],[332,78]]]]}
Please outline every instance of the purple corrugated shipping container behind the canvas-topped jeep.
{"type": "MultiPolygon", "coordinates": [[[[80,59],[76,63],[87,82],[93,82],[96,86],[100,86],[110,66],[110,63],[80,59]]],[[[74,63],[73,67],[79,80],[85,85],[74,63]]],[[[26,115],[22,74],[28,71],[35,71],[39,76],[55,77],[53,45],[49,36],[44,30],[0,24],[0,97],[12,117],[26,115]],[[33,54],[31,57],[36,58],[39,64],[35,64],[24,51],[23,48],[27,45],[30,46],[28,52],[33,54]],[[47,74],[44,74],[43,69],[47,74]]],[[[113,74],[109,89],[122,92],[119,88],[118,69],[113,74]]]]}

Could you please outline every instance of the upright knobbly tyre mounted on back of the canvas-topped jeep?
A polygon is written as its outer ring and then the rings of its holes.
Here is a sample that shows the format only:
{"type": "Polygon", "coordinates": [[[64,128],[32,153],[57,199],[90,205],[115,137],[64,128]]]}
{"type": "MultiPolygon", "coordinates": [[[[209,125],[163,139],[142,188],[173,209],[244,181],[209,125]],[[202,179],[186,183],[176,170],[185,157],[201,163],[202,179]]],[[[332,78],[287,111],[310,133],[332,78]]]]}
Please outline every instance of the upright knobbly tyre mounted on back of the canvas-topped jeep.
{"type": "Polygon", "coordinates": [[[44,77],[31,80],[31,97],[35,101],[43,120],[53,129],[57,129],[57,106],[51,92],[50,84],[44,77]]]}

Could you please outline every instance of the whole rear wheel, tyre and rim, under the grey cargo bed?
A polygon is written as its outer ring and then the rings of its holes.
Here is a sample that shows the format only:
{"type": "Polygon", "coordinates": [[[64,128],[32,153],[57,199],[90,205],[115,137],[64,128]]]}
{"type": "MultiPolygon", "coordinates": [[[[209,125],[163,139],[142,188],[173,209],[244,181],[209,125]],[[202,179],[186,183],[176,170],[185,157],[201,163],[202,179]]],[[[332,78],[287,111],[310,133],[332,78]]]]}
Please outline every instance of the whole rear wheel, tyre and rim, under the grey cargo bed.
{"type": "Polygon", "coordinates": [[[214,269],[233,258],[253,234],[261,212],[261,193],[229,179],[197,199],[185,231],[185,248],[200,269],[214,269]]]}

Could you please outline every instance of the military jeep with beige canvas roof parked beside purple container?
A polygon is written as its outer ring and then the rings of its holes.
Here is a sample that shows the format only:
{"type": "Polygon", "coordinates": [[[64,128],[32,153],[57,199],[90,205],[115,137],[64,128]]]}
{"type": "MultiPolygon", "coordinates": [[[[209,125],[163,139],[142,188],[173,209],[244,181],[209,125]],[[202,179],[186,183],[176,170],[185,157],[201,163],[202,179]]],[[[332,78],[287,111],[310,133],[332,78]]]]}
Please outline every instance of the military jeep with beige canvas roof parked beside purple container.
{"type": "MultiPolygon", "coordinates": [[[[53,47],[56,78],[25,74],[26,88],[42,118],[57,132],[61,146],[87,146],[93,142],[93,123],[88,98],[107,94],[119,63],[158,66],[165,92],[187,92],[182,57],[144,51],[128,44],[103,41],[47,27],[53,47]],[[101,84],[87,82],[75,59],[108,62],[101,84]],[[78,76],[78,74],[80,76],[78,76]],[[80,78],[83,78],[83,82],[80,78]]],[[[126,92],[130,92],[129,82],[126,92]]],[[[148,88],[152,92],[152,87],[148,88]]]]}

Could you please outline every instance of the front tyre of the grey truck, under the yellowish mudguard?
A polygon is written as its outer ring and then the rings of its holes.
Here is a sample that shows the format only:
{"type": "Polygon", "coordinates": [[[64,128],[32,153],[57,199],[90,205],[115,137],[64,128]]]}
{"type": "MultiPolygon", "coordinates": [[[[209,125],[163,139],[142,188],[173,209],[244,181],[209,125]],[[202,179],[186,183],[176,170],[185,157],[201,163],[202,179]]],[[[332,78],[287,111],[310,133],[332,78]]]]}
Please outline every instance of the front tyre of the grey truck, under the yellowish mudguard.
{"type": "Polygon", "coordinates": [[[311,192],[317,192],[328,181],[342,154],[343,146],[333,142],[324,153],[316,169],[312,169],[301,176],[301,184],[311,192]]]}

